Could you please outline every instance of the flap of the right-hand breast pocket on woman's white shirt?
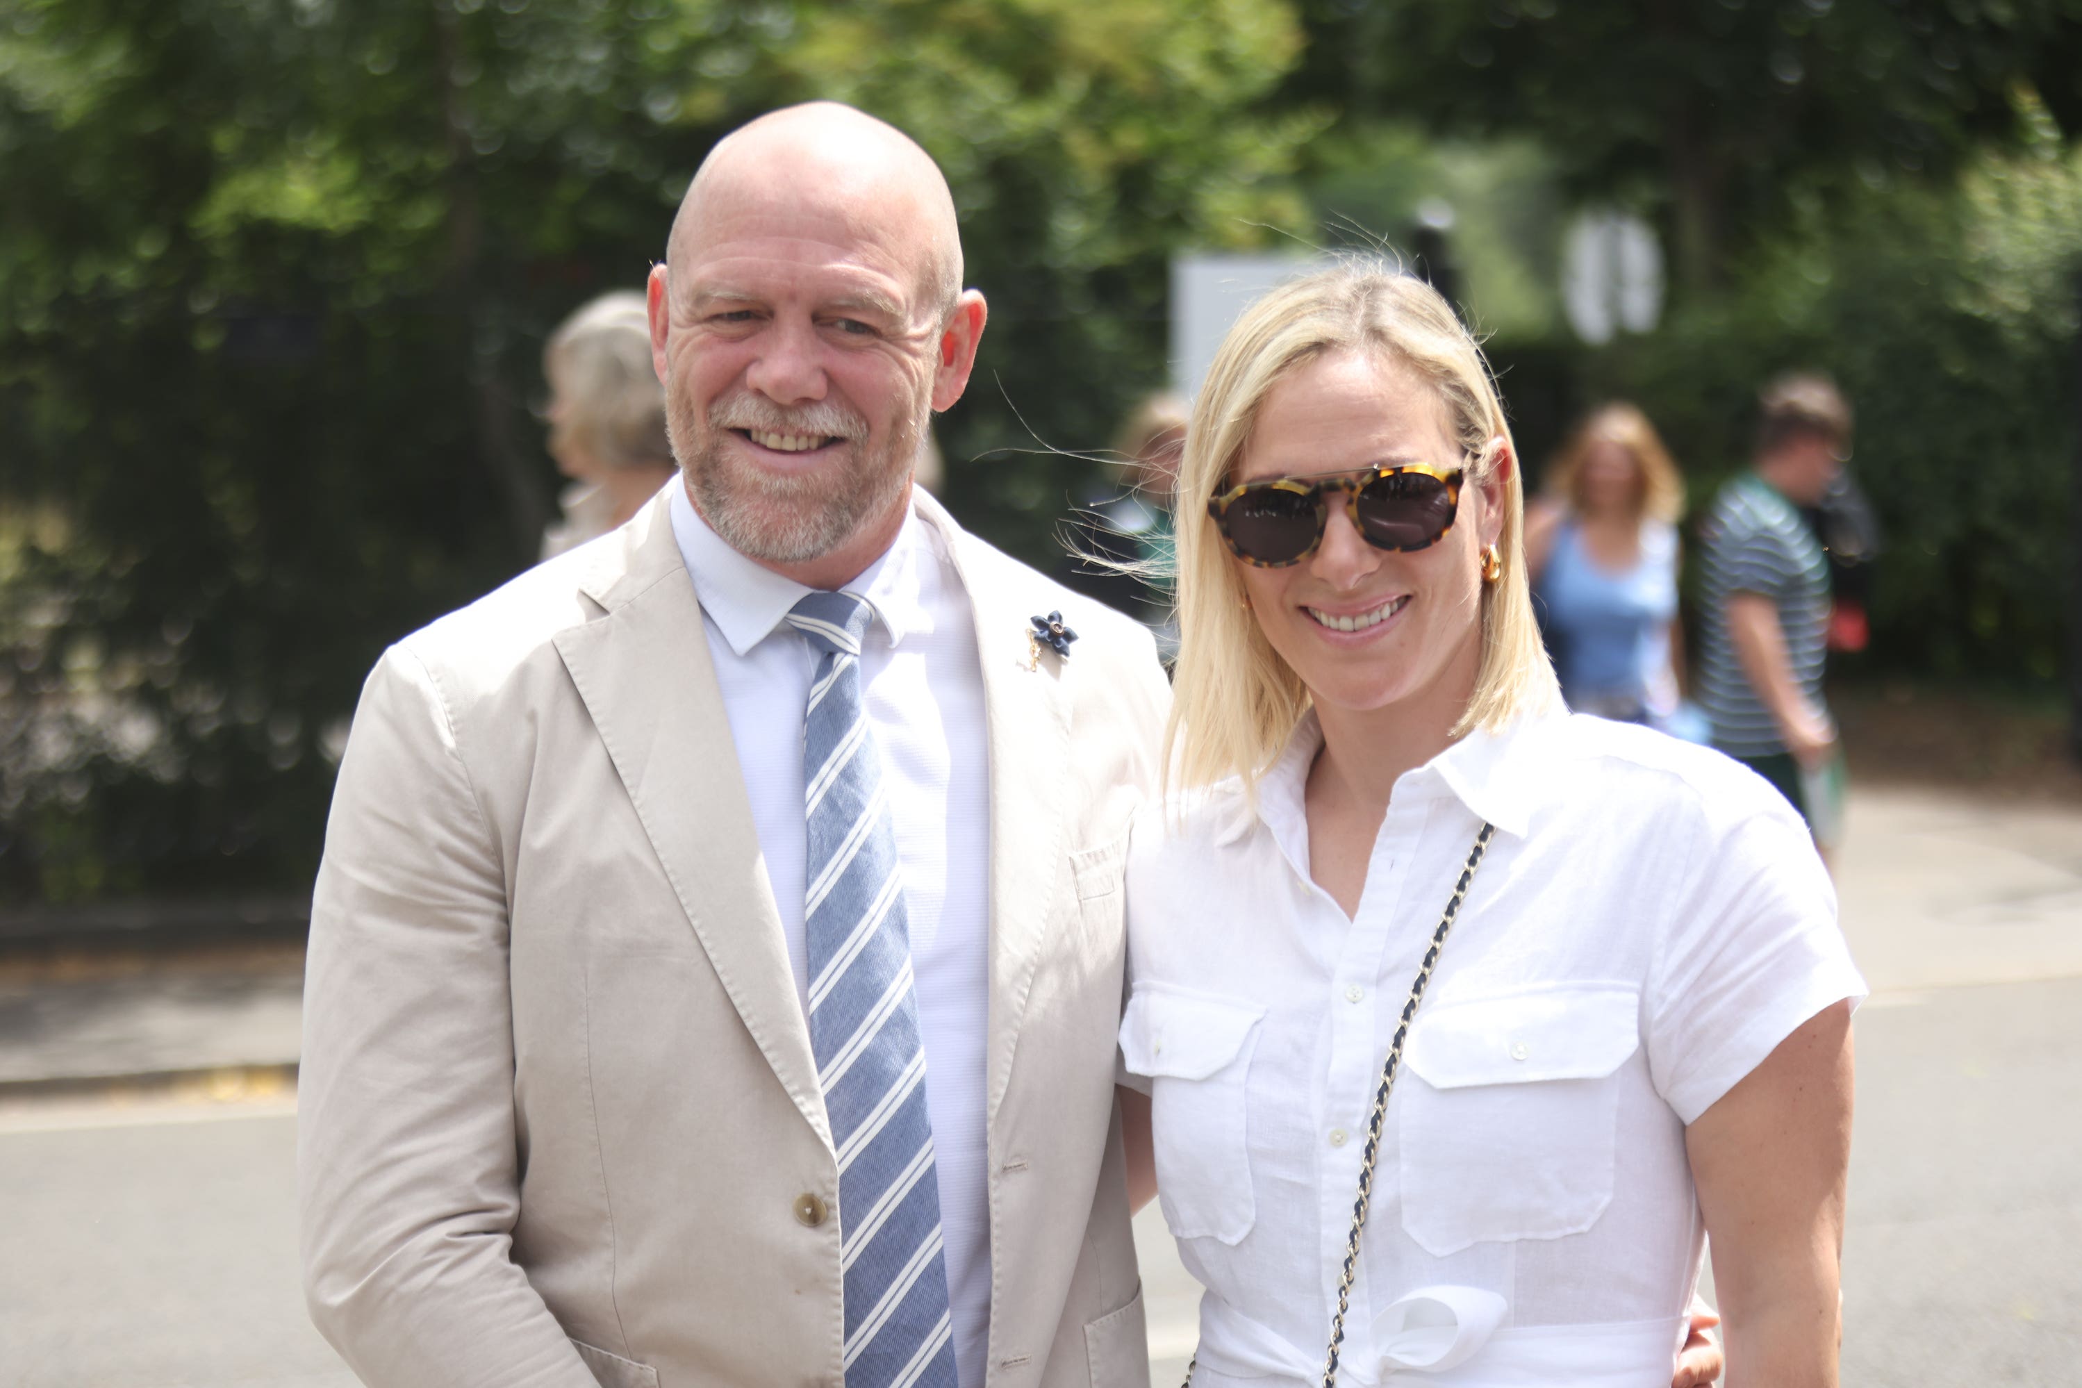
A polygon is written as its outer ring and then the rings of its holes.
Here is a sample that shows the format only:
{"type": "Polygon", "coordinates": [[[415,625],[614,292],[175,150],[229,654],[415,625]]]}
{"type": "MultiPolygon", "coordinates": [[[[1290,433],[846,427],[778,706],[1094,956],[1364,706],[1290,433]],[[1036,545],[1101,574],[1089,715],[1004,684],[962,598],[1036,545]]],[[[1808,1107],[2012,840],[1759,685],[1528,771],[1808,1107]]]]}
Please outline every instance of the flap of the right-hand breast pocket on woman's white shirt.
{"type": "Polygon", "coordinates": [[[1432,1088],[1601,1080],[1641,1047],[1632,984],[1472,997],[1418,1013],[1407,1055],[1432,1088]]]}

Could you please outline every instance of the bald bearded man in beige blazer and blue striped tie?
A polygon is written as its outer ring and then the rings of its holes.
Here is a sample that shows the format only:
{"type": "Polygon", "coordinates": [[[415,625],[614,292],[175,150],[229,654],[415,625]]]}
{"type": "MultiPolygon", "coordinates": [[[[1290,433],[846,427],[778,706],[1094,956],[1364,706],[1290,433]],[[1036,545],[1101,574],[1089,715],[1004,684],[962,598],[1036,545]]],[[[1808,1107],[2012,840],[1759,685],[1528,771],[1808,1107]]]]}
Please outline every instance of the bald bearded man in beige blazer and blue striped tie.
{"type": "Polygon", "coordinates": [[[910,139],[733,133],[650,283],[683,485],[369,676],[298,1095],[364,1382],[1147,1382],[1114,1032],[1166,687],[912,487],[985,316],[910,139]]]}

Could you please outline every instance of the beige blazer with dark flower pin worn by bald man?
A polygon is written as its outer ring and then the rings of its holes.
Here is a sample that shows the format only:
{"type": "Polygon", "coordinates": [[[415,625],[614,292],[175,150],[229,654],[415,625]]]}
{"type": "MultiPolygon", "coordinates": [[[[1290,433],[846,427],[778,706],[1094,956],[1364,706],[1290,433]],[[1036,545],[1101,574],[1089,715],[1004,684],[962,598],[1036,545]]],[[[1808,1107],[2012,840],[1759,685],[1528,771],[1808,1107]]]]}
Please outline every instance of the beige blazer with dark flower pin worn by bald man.
{"type": "MultiPolygon", "coordinates": [[[[1141,1388],[1114,1032],[1164,676],[920,510],[989,710],[989,1384],[1141,1388]],[[1051,608],[1083,639],[1029,670],[1051,608]]],[[[664,495],[377,664],[304,997],[304,1286],[364,1382],[843,1384],[837,1161],[664,495]]]]}

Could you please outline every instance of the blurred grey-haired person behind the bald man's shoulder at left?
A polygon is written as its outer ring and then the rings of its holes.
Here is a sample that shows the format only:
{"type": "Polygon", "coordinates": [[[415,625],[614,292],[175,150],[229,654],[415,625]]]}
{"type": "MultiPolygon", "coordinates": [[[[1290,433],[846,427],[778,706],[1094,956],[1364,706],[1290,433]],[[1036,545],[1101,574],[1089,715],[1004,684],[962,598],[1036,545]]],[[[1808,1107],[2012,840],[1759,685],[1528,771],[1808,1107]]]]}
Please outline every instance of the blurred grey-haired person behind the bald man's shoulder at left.
{"type": "Polygon", "coordinates": [[[573,479],[556,502],[562,518],[541,533],[548,560],[635,516],[675,466],[641,293],[602,293],[564,318],[541,350],[541,375],[550,456],[573,479]]]}

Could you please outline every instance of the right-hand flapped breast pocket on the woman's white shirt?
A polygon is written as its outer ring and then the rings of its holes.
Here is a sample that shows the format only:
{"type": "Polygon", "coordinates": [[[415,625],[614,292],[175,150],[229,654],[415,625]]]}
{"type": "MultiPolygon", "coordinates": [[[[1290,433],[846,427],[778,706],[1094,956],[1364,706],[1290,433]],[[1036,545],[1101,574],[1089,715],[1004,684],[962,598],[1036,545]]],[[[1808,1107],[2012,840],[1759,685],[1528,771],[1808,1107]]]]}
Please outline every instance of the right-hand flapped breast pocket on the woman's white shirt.
{"type": "Polygon", "coordinates": [[[1472,997],[1410,1028],[1397,1084],[1403,1230],[1445,1257],[1582,1234],[1611,1205],[1632,984],[1472,997]]]}

